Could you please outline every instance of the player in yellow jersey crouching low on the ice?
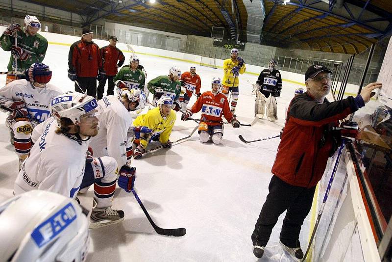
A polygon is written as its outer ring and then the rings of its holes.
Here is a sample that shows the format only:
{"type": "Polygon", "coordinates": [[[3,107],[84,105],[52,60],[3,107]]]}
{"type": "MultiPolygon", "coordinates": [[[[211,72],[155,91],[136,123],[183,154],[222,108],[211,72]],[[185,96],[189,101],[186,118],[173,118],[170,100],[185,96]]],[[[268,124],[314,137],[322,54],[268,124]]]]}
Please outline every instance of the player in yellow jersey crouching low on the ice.
{"type": "Polygon", "coordinates": [[[158,106],[150,109],[147,114],[138,116],[133,121],[134,126],[145,126],[153,131],[153,135],[141,136],[140,141],[135,140],[137,147],[133,152],[133,158],[138,159],[146,152],[147,144],[151,141],[159,141],[164,148],[171,148],[170,134],[176,120],[172,110],[173,101],[170,97],[163,96],[158,101],[158,106]]]}

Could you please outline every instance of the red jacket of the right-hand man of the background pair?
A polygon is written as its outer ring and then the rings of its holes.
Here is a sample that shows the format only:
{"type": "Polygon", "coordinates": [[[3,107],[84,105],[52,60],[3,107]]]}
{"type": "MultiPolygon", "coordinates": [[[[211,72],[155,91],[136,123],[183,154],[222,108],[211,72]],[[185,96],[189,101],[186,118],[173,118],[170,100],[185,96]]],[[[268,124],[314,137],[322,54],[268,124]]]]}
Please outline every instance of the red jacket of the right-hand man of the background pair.
{"type": "Polygon", "coordinates": [[[123,52],[114,46],[102,47],[100,52],[103,59],[103,69],[106,71],[106,76],[116,76],[117,68],[121,67],[125,60],[123,52]],[[118,64],[117,61],[119,61],[118,64]]]}

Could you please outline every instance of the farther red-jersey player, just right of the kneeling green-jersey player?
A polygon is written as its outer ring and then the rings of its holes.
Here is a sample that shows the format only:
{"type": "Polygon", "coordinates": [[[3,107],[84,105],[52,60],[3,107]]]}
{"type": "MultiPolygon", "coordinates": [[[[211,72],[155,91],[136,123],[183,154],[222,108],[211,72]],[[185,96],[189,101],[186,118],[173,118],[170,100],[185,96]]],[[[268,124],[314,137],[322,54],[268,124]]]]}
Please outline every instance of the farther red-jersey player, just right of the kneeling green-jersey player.
{"type": "Polygon", "coordinates": [[[186,109],[193,92],[196,92],[197,98],[201,96],[201,79],[200,76],[196,74],[196,67],[191,66],[189,72],[184,72],[181,76],[180,82],[181,85],[184,86],[186,89],[186,92],[184,94],[184,101],[182,102],[181,108],[186,109]]]}

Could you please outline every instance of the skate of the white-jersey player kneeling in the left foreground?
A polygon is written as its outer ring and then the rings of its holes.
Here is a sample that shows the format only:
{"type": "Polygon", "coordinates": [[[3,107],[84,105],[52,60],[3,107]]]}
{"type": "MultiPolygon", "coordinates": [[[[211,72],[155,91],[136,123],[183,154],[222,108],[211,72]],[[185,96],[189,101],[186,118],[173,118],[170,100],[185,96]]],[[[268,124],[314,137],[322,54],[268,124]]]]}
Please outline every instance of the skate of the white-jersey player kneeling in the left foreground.
{"type": "Polygon", "coordinates": [[[117,224],[124,220],[123,210],[108,208],[93,208],[90,216],[89,229],[96,229],[112,224],[117,224]]]}

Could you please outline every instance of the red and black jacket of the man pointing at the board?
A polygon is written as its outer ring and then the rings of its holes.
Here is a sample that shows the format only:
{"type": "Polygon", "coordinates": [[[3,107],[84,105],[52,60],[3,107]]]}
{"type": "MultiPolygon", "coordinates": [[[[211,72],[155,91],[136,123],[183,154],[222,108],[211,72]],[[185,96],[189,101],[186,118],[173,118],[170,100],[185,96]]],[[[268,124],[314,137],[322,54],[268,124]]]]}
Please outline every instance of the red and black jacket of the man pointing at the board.
{"type": "Polygon", "coordinates": [[[271,172],[294,186],[315,186],[333,152],[331,127],[356,110],[353,97],[332,103],[325,99],[322,104],[308,93],[294,97],[271,172]],[[321,141],[323,137],[325,142],[321,141]]]}

